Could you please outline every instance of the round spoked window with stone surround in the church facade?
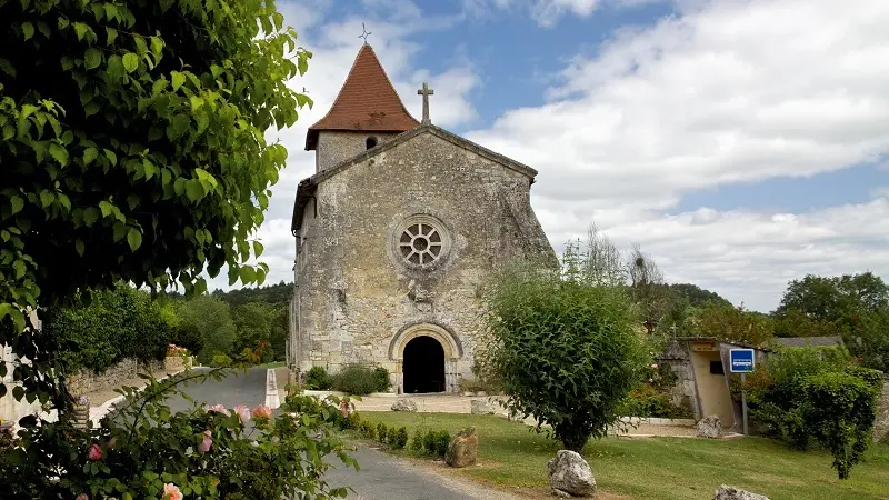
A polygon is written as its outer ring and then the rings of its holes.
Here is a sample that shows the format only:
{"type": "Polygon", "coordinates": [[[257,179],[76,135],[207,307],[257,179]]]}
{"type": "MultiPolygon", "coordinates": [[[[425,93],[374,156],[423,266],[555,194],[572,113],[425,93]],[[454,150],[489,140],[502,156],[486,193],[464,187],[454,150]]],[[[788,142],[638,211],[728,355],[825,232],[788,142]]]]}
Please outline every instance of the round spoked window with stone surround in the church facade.
{"type": "Polygon", "coordinates": [[[431,216],[409,217],[398,226],[396,238],[396,257],[411,268],[434,264],[450,250],[444,224],[431,216]]]}

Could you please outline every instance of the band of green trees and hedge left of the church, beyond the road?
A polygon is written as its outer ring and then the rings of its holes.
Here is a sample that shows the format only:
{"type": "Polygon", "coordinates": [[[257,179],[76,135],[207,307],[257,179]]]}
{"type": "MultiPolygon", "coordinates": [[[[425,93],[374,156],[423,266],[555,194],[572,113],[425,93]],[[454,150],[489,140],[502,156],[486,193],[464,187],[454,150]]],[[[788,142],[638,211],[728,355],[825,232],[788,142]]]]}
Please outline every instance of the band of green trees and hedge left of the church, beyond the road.
{"type": "Polygon", "coordinates": [[[120,282],[79,293],[71,306],[43,318],[71,369],[102,371],[124,358],[163,359],[170,343],[187,348],[210,364],[261,347],[262,362],[284,359],[288,334],[287,283],[217,290],[186,299],[178,293],[152,299],[147,290],[120,282]]]}

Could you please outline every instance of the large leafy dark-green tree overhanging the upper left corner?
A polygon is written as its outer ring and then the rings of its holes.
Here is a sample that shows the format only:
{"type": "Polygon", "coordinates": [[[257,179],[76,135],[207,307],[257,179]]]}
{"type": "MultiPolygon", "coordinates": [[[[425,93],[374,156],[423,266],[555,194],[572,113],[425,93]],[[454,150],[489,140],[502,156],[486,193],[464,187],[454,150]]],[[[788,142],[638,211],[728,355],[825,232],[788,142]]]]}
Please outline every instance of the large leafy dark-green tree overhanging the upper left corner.
{"type": "Polygon", "coordinates": [[[262,282],[243,262],[287,158],[264,134],[310,103],[286,83],[311,54],[263,0],[0,0],[0,343],[63,406],[29,309],[118,280],[200,292],[223,266],[262,282]]]}

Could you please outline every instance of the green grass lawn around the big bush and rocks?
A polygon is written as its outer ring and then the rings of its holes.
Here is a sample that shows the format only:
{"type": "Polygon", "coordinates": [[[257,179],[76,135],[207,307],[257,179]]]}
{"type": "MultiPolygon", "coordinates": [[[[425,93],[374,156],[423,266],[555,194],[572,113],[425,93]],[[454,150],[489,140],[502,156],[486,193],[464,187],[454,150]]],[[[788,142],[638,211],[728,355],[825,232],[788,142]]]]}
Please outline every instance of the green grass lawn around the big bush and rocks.
{"type": "MultiPolygon", "coordinates": [[[[493,416],[361,412],[387,426],[447,429],[475,426],[479,464],[453,473],[505,487],[548,484],[546,463],[559,446],[527,427],[493,416]]],[[[720,484],[745,488],[771,500],[889,499],[889,447],[876,444],[851,479],[839,481],[832,459],[821,451],[801,453],[763,438],[702,440],[689,438],[591,441],[583,449],[607,498],[709,500],[720,484]]]]}

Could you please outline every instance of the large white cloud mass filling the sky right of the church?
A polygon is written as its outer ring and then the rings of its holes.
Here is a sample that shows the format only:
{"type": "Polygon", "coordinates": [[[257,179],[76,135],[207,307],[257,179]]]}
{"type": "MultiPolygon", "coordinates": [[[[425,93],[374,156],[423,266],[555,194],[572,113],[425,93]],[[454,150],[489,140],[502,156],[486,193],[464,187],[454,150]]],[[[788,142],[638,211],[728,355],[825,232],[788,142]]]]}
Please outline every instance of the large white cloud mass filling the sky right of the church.
{"type": "Polygon", "coordinates": [[[533,203],[557,246],[595,220],[641,243],[672,280],[763,310],[807,272],[889,276],[885,190],[812,213],[663,214],[700,189],[879,162],[889,3],[680,4],[576,58],[546,106],[468,137],[540,171],[533,203]]]}

